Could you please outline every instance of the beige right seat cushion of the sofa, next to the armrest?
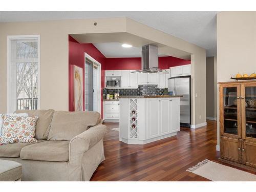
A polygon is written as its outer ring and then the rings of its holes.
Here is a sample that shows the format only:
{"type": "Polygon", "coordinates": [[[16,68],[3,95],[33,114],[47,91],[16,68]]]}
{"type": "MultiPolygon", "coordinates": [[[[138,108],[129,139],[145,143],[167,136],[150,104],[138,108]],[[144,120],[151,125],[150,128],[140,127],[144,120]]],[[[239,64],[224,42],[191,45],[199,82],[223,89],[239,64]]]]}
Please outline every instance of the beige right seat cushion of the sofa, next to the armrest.
{"type": "Polygon", "coordinates": [[[38,161],[69,161],[69,141],[44,141],[22,148],[20,159],[38,161]]]}

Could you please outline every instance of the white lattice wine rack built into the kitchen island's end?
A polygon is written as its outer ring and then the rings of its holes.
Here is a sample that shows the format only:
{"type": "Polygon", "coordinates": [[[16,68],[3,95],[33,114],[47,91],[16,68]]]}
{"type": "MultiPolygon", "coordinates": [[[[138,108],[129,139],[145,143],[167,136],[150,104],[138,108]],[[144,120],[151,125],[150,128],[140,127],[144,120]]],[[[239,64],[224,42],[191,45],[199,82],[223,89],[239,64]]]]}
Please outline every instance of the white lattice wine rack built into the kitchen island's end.
{"type": "Polygon", "coordinates": [[[138,99],[130,99],[130,129],[129,137],[138,138],[138,99]]]}

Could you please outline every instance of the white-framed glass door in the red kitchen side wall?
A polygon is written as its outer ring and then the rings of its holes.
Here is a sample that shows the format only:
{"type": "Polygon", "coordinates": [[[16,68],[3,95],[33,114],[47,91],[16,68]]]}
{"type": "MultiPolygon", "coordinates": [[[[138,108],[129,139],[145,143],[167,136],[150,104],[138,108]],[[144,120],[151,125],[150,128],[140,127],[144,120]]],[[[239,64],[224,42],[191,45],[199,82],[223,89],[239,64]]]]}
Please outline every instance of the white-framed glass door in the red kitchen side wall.
{"type": "Polygon", "coordinates": [[[85,53],[84,69],[84,110],[101,113],[101,64],[85,53]]]}

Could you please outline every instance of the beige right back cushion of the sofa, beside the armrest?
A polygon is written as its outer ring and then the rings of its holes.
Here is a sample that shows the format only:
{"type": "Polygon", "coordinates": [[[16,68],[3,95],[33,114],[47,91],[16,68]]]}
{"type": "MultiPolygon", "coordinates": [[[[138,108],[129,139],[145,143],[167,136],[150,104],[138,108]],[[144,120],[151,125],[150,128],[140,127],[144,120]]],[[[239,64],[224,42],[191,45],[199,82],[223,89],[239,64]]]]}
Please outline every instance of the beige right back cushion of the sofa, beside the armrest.
{"type": "Polygon", "coordinates": [[[48,140],[68,140],[88,130],[101,121],[98,112],[65,112],[53,114],[48,140]]]}

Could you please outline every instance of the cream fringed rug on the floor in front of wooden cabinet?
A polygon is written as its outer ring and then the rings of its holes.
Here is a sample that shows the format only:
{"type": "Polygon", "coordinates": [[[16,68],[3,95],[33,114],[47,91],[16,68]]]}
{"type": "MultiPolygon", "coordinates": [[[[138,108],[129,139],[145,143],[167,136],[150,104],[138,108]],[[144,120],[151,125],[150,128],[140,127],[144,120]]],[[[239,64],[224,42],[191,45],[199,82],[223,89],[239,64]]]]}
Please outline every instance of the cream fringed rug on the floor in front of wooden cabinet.
{"type": "Polygon", "coordinates": [[[187,169],[211,181],[256,181],[256,175],[208,159],[187,169]]]}

